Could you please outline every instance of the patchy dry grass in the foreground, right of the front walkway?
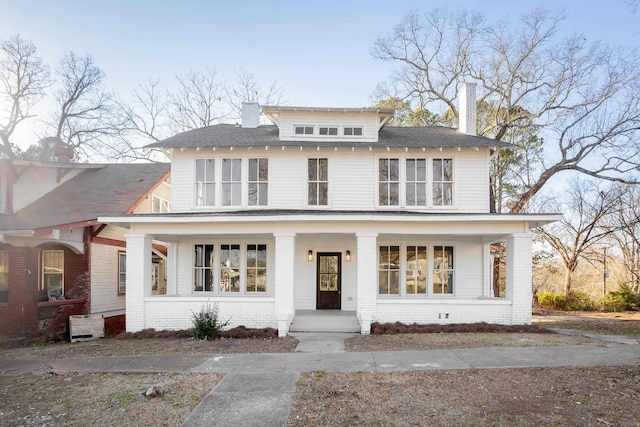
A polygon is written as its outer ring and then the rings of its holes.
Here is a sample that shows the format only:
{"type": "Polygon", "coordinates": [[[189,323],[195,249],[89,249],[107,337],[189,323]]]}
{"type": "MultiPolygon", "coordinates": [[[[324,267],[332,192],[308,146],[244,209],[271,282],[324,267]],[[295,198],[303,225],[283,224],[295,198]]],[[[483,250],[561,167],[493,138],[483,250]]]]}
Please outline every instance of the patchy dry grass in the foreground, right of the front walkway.
{"type": "Polygon", "coordinates": [[[289,426],[637,426],[640,367],[310,372],[289,426]]]}

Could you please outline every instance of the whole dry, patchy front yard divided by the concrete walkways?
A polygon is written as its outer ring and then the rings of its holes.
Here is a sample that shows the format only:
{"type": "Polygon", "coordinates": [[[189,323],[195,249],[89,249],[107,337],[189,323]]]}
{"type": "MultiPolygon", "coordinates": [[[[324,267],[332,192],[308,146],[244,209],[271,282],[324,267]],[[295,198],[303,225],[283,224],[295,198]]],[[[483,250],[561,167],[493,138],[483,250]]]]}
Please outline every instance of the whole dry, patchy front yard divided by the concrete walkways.
{"type": "MultiPolygon", "coordinates": [[[[546,312],[531,330],[372,335],[349,351],[479,346],[595,344],[534,329],[571,328],[640,336],[640,313],[546,312]]],[[[474,330],[477,330],[475,326],[474,330]]],[[[415,332],[415,331],[414,331],[415,332]]],[[[137,354],[292,352],[297,341],[258,335],[213,342],[147,332],[81,343],[0,350],[0,358],[137,354]]],[[[0,425],[179,425],[220,380],[216,374],[59,374],[0,376],[0,425]],[[143,393],[158,385],[161,394],[143,393]]],[[[289,425],[638,426],[640,367],[494,369],[304,374],[289,425]]]]}

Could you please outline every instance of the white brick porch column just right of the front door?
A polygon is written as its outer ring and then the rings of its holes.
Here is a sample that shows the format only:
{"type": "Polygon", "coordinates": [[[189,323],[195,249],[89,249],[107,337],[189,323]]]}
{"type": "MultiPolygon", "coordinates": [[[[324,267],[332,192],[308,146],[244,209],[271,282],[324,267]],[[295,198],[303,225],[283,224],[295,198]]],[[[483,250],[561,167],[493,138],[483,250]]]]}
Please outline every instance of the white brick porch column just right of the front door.
{"type": "Polygon", "coordinates": [[[378,277],[378,233],[356,234],[356,315],[360,333],[371,333],[376,313],[376,283],[378,277]]]}

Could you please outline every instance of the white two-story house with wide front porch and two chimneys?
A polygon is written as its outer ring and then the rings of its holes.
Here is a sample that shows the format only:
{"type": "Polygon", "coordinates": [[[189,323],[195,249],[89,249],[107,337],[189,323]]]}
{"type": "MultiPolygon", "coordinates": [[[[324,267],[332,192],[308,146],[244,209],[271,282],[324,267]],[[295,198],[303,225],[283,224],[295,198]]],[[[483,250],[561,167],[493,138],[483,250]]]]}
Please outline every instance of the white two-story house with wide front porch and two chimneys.
{"type": "Polygon", "coordinates": [[[530,323],[530,231],[559,215],[490,213],[489,162],[506,144],[475,135],[474,92],[457,130],[387,127],[394,110],[375,108],[263,106],[273,124],[260,125],[246,104],[241,125],[153,144],[171,156],[172,212],[101,219],[130,229],[127,330],[189,328],[213,304],[232,326],[280,336],[320,311],[363,334],[372,322],[530,323]],[[156,241],[164,295],[152,290],[156,241]]]}

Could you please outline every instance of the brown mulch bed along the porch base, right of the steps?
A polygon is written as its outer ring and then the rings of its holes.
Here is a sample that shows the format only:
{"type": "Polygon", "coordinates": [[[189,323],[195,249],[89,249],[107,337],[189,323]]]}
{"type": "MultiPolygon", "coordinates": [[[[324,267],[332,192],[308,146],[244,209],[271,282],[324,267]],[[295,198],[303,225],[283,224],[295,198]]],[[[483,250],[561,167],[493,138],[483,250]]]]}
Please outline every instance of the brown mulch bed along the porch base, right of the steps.
{"type": "Polygon", "coordinates": [[[529,334],[554,334],[555,332],[542,328],[538,325],[495,325],[492,323],[459,323],[452,325],[418,325],[413,323],[372,323],[371,333],[373,335],[396,335],[396,334],[437,334],[452,332],[513,332],[529,334]]]}

